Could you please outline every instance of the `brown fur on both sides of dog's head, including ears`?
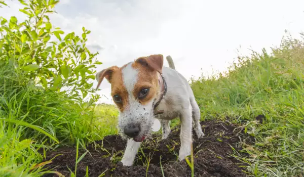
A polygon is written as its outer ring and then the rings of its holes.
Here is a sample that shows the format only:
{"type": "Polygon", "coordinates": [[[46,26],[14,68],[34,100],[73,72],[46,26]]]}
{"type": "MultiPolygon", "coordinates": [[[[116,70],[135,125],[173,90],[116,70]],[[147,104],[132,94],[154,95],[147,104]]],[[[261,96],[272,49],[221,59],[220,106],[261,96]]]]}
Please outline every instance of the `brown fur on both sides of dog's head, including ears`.
{"type": "MultiPolygon", "coordinates": [[[[126,64],[127,65],[127,64],[126,64]]],[[[111,84],[111,96],[119,95],[122,98],[122,103],[116,103],[119,110],[123,112],[128,106],[128,92],[125,88],[123,82],[122,69],[126,67],[126,65],[122,67],[112,66],[106,68],[99,73],[98,75],[98,85],[97,89],[105,77],[109,83],[111,84]]],[[[140,57],[132,63],[132,67],[137,69],[138,78],[137,83],[134,86],[133,96],[138,98],[139,93],[142,89],[149,89],[148,95],[139,100],[142,105],[145,105],[159,96],[160,94],[160,85],[158,82],[158,73],[162,73],[163,67],[163,55],[150,55],[148,57],[140,57]]]]}

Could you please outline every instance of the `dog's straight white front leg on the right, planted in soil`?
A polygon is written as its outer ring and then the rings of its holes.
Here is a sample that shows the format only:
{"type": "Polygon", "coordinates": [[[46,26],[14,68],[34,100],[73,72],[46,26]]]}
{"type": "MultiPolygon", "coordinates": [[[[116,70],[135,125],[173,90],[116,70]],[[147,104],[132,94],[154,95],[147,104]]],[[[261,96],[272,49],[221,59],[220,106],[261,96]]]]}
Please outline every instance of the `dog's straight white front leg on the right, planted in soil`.
{"type": "Polygon", "coordinates": [[[192,108],[184,109],[180,115],[180,149],[179,161],[191,154],[192,144],[192,108]]]}

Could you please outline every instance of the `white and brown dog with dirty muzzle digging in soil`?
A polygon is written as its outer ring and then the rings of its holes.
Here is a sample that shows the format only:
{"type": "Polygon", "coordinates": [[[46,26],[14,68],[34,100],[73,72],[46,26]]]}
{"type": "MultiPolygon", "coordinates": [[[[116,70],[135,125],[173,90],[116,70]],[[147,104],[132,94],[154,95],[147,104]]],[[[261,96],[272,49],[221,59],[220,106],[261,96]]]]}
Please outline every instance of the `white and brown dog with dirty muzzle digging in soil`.
{"type": "Polygon", "coordinates": [[[170,120],[181,122],[179,161],[191,154],[192,127],[198,138],[204,136],[200,109],[188,81],[170,67],[163,66],[163,55],[139,57],[122,67],[111,66],[96,73],[96,90],[104,78],[111,84],[111,96],[119,109],[118,128],[127,139],[121,162],[133,165],[141,142],[151,137],[151,126],[157,118],[162,126],[162,139],[170,134],[170,120]]]}

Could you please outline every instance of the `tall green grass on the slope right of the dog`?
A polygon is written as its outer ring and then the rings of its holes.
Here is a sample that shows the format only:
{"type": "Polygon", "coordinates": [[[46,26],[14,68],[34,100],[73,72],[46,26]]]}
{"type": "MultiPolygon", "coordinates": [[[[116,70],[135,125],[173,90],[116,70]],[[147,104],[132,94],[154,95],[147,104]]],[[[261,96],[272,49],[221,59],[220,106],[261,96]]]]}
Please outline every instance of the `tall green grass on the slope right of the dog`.
{"type": "Polygon", "coordinates": [[[256,139],[244,145],[256,176],[296,176],[304,171],[304,42],[287,37],[272,54],[240,57],[229,71],[193,80],[206,119],[230,117],[256,139]],[[225,76],[224,76],[225,75],[225,76]],[[265,116],[259,124],[255,117],[265,116]]]}

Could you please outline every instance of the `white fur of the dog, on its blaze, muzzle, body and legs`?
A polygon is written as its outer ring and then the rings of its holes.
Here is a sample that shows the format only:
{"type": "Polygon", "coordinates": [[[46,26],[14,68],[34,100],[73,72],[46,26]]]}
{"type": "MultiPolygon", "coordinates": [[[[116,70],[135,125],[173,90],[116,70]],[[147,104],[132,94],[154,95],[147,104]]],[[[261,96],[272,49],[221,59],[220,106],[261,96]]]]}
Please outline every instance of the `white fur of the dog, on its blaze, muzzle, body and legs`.
{"type": "MultiPolygon", "coordinates": [[[[141,105],[133,96],[132,91],[137,82],[138,71],[129,63],[123,69],[123,80],[128,91],[128,108],[119,115],[120,133],[123,137],[123,129],[128,123],[140,123],[140,135],[149,136],[153,123],[153,101],[147,105],[141,105]]],[[[193,91],[187,80],[176,70],[163,67],[163,76],[167,82],[167,94],[160,102],[156,111],[164,110],[163,114],[155,116],[160,119],[163,127],[163,139],[170,134],[169,121],[179,117],[181,121],[179,160],[183,160],[191,153],[192,144],[192,120],[194,120],[195,131],[198,138],[204,136],[200,126],[200,109],[195,101],[193,91]]],[[[128,140],[127,147],[122,158],[124,165],[133,164],[134,158],[140,147],[140,143],[128,140]]]]}

